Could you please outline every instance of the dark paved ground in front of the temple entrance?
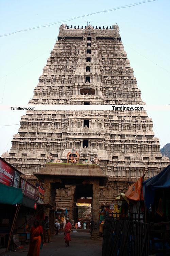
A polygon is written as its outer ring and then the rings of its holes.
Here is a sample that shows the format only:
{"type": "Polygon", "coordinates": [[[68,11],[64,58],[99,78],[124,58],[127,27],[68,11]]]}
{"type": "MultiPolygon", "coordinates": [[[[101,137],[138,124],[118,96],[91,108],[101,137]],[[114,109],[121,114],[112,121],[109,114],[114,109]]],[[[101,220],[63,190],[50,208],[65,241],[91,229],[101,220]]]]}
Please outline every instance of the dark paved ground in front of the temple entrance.
{"type": "MultiPolygon", "coordinates": [[[[6,256],[27,256],[29,246],[23,246],[16,252],[7,252],[6,256]]],[[[99,241],[92,241],[88,232],[71,232],[70,246],[66,247],[64,232],[58,236],[52,236],[52,243],[45,244],[40,250],[40,256],[101,256],[102,238],[99,241]]]]}

